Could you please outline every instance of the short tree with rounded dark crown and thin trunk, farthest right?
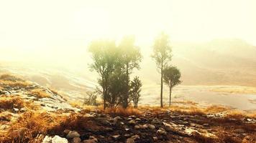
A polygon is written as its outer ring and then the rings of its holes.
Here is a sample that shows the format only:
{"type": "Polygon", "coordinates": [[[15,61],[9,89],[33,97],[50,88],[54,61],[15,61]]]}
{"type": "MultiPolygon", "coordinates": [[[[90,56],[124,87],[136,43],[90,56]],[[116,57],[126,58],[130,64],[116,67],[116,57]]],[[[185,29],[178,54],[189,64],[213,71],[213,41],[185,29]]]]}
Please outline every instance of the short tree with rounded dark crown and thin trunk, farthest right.
{"type": "Polygon", "coordinates": [[[168,85],[170,89],[170,101],[169,101],[169,107],[171,102],[171,95],[172,95],[172,89],[176,85],[180,84],[180,70],[177,69],[175,66],[168,66],[163,70],[163,79],[165,84],[168,85]]]}

